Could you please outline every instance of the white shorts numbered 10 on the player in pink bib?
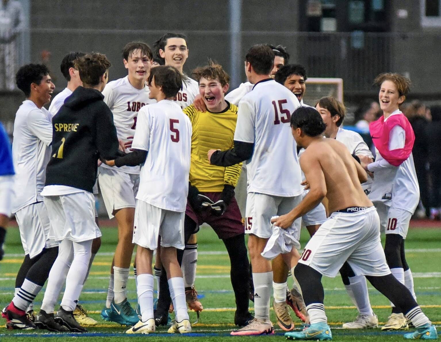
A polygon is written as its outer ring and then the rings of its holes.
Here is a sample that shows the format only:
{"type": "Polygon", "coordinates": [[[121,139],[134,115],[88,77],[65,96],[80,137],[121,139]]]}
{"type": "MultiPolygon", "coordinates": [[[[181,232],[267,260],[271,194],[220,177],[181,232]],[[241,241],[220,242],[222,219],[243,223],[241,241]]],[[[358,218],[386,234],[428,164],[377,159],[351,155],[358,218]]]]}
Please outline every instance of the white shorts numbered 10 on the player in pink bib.
{"type": "Polygon", "coordinates": [[[399,234],[405,239],[412,213],[404,209],[389,207],[382,202],[376,202],[375,207],[380,216],[381,233],[399,234]]]}

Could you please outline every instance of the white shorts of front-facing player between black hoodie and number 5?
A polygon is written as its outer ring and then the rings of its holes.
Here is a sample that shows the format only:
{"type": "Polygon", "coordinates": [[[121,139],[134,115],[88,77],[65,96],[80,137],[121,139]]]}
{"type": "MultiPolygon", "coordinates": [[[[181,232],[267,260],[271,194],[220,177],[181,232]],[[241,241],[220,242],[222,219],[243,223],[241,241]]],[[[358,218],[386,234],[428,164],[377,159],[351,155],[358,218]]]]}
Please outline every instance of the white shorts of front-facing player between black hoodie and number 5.
{"type": "Polygon", "coordinates": [[[117,170],[117,167],[113,169],[100,167],[98,182],[109,219],[118,209],[135,208],[139,175],[125,173],[117,170]]]}

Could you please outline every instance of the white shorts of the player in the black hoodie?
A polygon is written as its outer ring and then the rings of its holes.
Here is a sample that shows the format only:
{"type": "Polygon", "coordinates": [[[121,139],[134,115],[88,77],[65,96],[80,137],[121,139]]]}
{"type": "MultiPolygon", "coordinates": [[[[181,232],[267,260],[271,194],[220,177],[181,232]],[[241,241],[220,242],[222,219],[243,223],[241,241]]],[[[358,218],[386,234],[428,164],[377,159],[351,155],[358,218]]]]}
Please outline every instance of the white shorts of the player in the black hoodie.
{"type": "Polygon", "coordinates": [[[50,220],[50,238],[83,242],[101,236],[95,223],[95,197],[92,193],[82,191],[45,196],[44,201],[50,220]]]}

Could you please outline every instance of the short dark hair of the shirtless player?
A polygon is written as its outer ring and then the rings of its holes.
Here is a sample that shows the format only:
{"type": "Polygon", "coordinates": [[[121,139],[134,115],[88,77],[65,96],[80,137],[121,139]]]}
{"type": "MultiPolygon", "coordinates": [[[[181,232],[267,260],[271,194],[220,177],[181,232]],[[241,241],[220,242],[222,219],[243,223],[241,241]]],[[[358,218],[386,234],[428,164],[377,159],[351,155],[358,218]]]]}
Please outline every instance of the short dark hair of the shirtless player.
{"type": "Polygon", "coordinates": [[[321,119],[317,109],[309,106],[300,106],[291,115],[291,127],[301,128],[310,137],[323,134],[326,124],[321,119]]]}

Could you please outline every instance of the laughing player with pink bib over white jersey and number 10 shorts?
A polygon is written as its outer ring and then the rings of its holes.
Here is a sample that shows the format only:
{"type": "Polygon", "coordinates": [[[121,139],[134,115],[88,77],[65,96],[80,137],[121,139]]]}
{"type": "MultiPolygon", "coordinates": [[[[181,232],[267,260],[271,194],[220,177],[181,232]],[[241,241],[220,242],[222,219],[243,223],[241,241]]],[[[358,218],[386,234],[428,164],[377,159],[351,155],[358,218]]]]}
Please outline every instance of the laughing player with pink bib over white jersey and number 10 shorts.
{"type": "MultiPolygon", "coordinates": [[[[380,74],[374,81],[380,86],[378,100],[383,116],[370,123],[369,130],[377,151],[374,163],[365,166],[374,173],[369,198],[386,231],[385,254],[392,274],[415,297],[412,272],[404,253],[409,221],[419,202],[419,185],[415,173],[412,146],[415,135],[400,111],[410,81],[400,74],[380,74]]],[[[406,312],[392,307],[389,320],[381,329],[407,329],[406,312]]]]}

